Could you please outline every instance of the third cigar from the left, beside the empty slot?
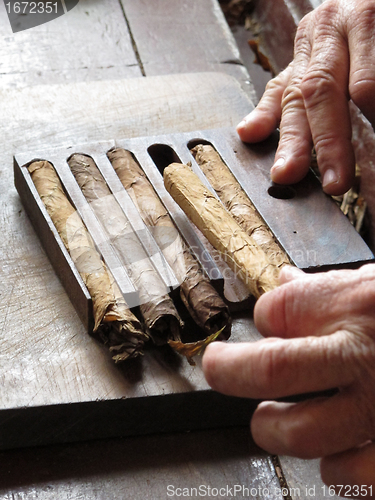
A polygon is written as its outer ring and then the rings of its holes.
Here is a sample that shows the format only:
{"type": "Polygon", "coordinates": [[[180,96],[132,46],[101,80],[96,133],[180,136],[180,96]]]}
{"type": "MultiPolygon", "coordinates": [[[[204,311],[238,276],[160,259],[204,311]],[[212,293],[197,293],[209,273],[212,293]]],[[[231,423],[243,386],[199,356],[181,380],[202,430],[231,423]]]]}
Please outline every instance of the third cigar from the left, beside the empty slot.
{"type": "Polygon", "coordinates": [[[229,338],[228,307],[188,246],[133,155],[122,148],[107,154],[122,185],[128,191],[143,221],[161,248],[180,283],[180,295],[194,321],[208,334],[223,330],[229,338]]]}

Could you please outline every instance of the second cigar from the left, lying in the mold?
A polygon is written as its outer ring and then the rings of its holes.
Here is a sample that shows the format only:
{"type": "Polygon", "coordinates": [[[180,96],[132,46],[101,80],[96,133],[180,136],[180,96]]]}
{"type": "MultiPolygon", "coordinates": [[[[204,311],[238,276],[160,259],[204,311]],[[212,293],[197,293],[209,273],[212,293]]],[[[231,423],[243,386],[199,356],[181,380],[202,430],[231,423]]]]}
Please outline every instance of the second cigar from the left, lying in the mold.
{"type": "Polygon", "coordinates": [[[94,160],[74,154],[68,164],[139,292],[147,333],[158,345],[169,339],[180,340],[182,321],[173,301],[94,160]]]}

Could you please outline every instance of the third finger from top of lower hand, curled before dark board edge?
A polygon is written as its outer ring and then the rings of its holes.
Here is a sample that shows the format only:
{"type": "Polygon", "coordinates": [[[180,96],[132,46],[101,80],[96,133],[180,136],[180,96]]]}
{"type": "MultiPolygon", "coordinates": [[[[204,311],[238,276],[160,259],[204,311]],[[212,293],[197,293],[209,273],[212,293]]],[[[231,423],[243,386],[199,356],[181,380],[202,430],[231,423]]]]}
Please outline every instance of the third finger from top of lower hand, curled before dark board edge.
{"type": "Polygon", "coordinates": [[[269,453],[317,458],[339,453],[368,439],[368,425],[354,398],[339,393],[301,403],[261,403],[251,432],[269,453]]]}

